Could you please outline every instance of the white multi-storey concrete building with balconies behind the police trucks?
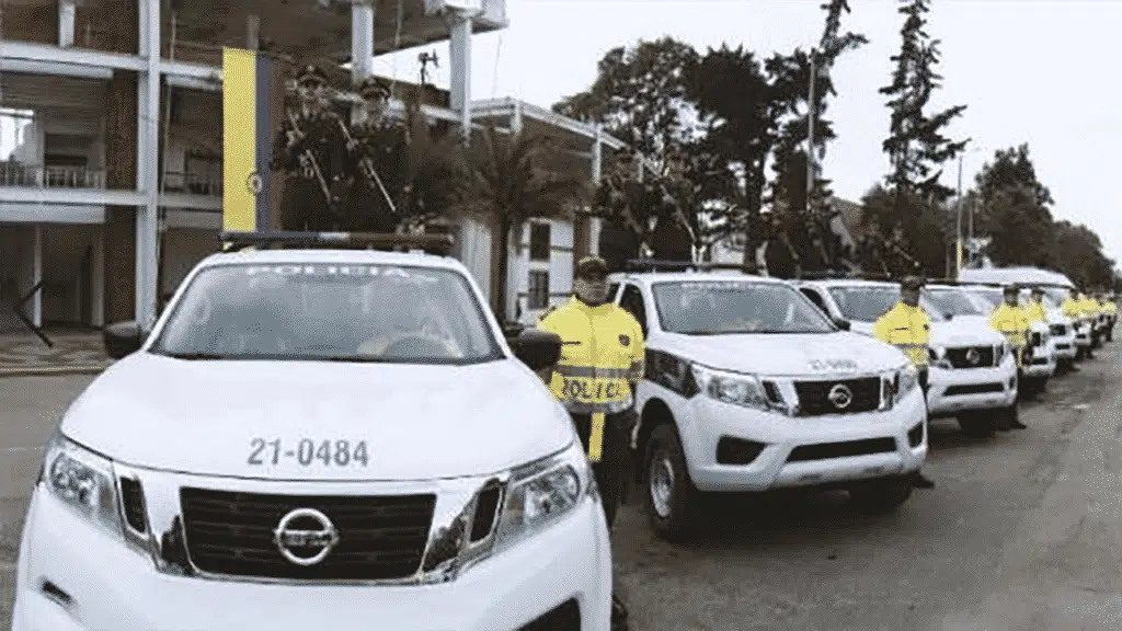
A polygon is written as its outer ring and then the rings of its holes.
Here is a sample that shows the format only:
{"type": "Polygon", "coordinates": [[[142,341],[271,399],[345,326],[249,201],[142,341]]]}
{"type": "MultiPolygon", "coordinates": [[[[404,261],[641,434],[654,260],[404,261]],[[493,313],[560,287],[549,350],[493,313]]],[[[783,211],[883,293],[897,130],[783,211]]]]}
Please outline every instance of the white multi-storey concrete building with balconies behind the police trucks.
{"type": "MultiPolygon", "coordinates": [[[[357,80],[395,40],[450,40],[451,89],[430,90],[430,117],[548,127],[587,159],[591,179],[605,148],[622,146],[542,108],[472,102],[471,34],[505,28],[505,0],[396,2],[379,1],[376,12],[373,0],[3,0],[0,329],[20,326],[8,305],[24,295],[37,324],[148,320],[215,250],[222,46],[357,60],[357,80]]],[[[596,223],[525,227],[511,264],[511,314],[526,320],[568,293],[574,256],[597,249],[596,223]]],[[[458,255],[489,290],[488,229],[457,231],[458,255]]]]}

